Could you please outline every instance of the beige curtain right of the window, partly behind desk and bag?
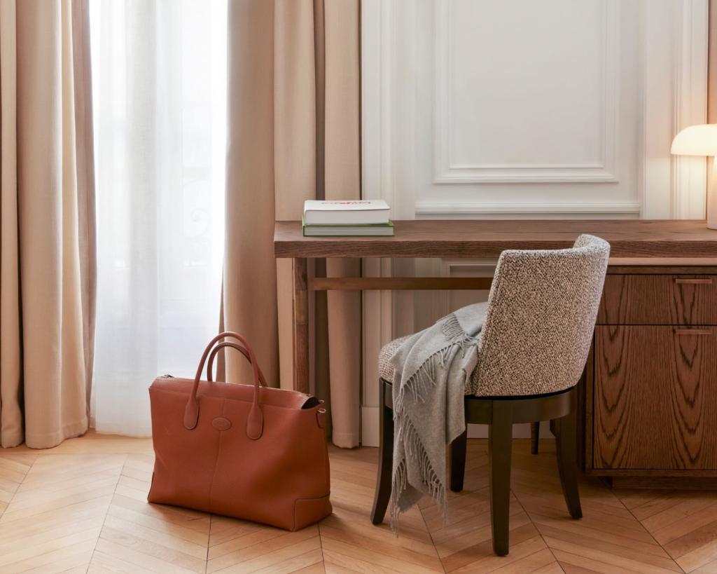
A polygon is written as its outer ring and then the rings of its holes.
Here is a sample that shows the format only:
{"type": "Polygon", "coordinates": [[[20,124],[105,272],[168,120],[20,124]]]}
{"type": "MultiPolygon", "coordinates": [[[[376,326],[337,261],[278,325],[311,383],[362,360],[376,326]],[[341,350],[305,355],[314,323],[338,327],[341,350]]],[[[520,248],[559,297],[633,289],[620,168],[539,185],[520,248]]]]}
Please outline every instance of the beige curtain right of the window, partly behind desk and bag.
{"type": "MultiPolygon", "coordinates": [[[[291,271],[274,259],[274,222],[299,220],[305,199],[360,197],[359,55],[359,0],[230,0],[224,325],[284,387],[291,271]]],[[[330,275],[359,270],[328,262],[330,275]]],[[[357,446],[361,298],[331,292],[315,310],[315,393],[330,396],[333,442],[357,446]]],[[[241,358],[227,356],[228,380],[247,379],[241,358]]]]}

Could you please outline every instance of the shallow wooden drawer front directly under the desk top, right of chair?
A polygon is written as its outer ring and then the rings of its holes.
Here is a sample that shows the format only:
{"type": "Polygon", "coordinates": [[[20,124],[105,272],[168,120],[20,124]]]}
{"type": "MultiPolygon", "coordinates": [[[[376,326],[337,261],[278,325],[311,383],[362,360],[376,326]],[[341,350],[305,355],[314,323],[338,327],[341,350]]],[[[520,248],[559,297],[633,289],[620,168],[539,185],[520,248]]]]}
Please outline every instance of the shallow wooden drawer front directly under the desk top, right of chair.
{"type": "Polygon", "coordinates": [[[717,325],[717,276],[608,275],[597,323],[717,325]]]}

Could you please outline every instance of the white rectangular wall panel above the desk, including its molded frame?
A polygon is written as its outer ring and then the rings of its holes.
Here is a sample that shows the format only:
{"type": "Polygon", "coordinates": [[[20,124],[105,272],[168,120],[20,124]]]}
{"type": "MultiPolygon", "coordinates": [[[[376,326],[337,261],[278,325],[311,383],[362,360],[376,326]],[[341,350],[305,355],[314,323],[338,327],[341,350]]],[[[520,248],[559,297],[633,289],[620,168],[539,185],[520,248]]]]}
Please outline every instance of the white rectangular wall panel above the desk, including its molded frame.
{"type": "Polygon", "coordinates": [[[434,182],[617,180],[617,0],[435,6],[434,182]]]}

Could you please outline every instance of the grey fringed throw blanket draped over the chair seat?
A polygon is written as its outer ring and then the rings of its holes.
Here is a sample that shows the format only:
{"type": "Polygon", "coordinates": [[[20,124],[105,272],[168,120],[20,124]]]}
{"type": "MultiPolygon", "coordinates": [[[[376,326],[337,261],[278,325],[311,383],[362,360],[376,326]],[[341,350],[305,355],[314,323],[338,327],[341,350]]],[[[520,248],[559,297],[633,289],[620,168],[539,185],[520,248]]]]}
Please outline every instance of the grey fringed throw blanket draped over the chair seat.
{"type": "Polygon", "coordinates": [[[446,446],[465,430],[463,397],[478,362],[485,303],[469,305],[412,335],[391,357],[394,466],[391,526],[429,494],[446,516],[446,446]]]}

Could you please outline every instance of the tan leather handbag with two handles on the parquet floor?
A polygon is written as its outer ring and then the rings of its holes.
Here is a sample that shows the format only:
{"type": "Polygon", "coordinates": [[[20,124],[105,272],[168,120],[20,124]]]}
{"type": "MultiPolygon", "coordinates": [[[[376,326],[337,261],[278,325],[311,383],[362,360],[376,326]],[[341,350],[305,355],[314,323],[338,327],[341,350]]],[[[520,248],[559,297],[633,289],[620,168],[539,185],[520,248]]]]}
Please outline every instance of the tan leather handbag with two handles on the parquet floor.
{"type": "Polygon", "coordinates": [[[286,530],[331,514],[326,411],[315,397],[266,387],[254,352],[240,335],[214,337],[194,380],[158,377],[149,397],[156,455],[149,502],[286,530]],[[219,343],[224,337],[239,344],[219,343]],[[253,385],[212,382],[212,362],[222,347],[250,360],[253,385]]]}

